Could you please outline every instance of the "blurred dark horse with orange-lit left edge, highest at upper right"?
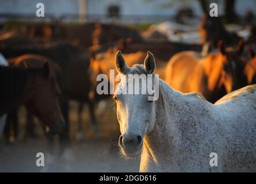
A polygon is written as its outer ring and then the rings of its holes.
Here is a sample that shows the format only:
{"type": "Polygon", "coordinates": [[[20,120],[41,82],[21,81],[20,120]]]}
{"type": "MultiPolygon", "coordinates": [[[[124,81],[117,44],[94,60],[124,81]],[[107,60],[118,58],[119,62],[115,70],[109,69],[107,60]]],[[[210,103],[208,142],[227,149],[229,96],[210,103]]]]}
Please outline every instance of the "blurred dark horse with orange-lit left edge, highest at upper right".
{"type": "Polygon", "coordinates": [[[222,23],[222,17],[204,16],[199,25],[202,42],[210,43],[214,48],[217,47],[218,40],[223,40],[226,45],[238,44],[241,37],[236,33],[228,32],[222,23]]]}

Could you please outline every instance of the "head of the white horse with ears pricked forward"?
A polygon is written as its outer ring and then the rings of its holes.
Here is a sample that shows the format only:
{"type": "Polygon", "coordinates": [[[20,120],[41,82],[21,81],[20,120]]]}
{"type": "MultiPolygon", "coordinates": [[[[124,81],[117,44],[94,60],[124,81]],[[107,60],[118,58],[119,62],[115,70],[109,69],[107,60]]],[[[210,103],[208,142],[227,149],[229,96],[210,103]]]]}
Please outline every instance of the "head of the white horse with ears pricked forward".
{"type": "Polygon", "coordinates": [[[113,96],[117,104],[117,120],[121,131],[119,145],[123,155],[135,157],[142,151],[144,135],[153,129],[155,123],[155,101],[151,99],[152,95],[149,94],[148,89],[144,93],[145,87],[148,87],[150,82],[153,83],[150,85],[151,89],[156,86],[154,56],[148,52],[144,65],[136,64],[128,67],[123,55],[118,51],[116,69],[123,74],[113,96]],[[136,81],[135,75],[146,77],[140,77],[136,81]],[[152,78],[149,79],[149,76],[152,78]],[[136,85],[136,82],[139,85],[136,85]],[[133,86],[132,90],[131,86],[133,86]]]}

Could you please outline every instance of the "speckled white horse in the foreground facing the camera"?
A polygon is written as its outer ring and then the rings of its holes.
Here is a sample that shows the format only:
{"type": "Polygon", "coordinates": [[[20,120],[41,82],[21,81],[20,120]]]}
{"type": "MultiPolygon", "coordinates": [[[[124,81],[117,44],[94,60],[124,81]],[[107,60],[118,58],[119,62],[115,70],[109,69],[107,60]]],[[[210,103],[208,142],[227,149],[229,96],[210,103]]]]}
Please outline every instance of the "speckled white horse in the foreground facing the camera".
{"type": "Polygon", "coordinates": [[[211,104],[159,79],[159,98],[147,101],[147,94],[120,93],[128,74],[154,74],[154,56],[148,52],[144,66],[128,67],[119,51],[116,68],[124,74],[113,97],[119,145],[125,156],[141,154],[141,172],[256,171],[256,85],[211,104]]]}

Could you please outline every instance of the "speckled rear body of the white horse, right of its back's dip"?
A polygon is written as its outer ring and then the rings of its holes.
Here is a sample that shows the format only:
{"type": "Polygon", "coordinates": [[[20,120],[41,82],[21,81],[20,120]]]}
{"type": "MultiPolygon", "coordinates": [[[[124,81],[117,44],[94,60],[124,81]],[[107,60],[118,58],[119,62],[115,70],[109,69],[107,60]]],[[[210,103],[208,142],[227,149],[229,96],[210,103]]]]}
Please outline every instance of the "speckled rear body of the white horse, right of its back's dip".
{"type": "Polygon", "coordinates": [[[243,87],[216,103],[222,171],[256,171],[256,85],[243,87]]]}

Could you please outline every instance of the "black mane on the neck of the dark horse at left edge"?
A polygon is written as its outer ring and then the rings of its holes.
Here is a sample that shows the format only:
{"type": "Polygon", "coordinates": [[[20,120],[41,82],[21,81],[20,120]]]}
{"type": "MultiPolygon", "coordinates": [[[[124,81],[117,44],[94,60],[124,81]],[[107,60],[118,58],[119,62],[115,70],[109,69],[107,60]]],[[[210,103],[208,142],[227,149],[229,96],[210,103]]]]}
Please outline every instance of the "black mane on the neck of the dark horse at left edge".
{"type": "Polygon", "coordinates": [[[24,68],[0,66],[0,102],[20,99],[25,91],[28,72],[24,68]]]}

